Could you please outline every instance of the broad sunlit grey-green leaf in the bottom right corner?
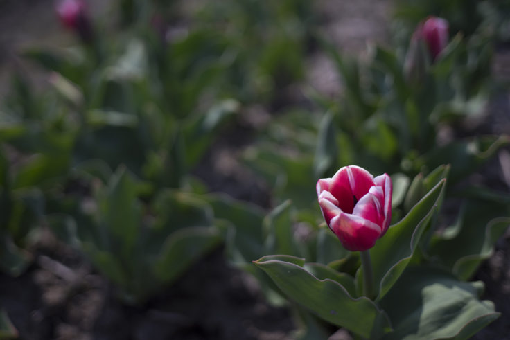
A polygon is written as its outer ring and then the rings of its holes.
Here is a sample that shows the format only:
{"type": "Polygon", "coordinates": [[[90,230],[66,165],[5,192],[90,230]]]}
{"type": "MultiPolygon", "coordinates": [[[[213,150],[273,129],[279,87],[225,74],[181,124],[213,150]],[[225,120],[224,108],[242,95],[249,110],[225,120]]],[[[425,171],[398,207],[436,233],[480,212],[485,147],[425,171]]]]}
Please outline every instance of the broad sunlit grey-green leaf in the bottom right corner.
{"type": "Polygon", "coordinates": [[[483,283],[458,281],[425,266],[407,267],[380,300],[394,332],[384,340],[468,339],[498,318],[490,301],[480,301],[483,283]]]}

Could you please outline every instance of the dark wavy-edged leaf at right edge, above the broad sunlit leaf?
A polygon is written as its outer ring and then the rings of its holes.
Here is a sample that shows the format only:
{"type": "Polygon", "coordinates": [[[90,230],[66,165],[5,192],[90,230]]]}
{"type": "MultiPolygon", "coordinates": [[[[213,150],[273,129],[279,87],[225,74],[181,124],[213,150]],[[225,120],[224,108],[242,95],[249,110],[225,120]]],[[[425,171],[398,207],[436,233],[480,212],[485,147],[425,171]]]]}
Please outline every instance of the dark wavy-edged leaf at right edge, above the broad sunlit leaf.
{"type": "Polygon", "coordinates": [[[428,253],[437,256],[459,279],[468,280],[482,260],[492,255],[493,244],[510,226],[510,217],[494,218],[498,215],[508,216],[506,204],[469,200],[457,223],[434,235],[428,253]]]}

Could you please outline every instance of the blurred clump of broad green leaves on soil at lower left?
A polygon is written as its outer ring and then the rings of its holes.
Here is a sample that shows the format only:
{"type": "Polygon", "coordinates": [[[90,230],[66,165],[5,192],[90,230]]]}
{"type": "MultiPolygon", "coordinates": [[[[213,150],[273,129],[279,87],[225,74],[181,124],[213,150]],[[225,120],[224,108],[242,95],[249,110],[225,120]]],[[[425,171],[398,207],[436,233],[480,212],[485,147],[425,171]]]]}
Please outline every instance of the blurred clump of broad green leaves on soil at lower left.
{"type": "Polygon", "coordinates": [[[64,222],[71,227],[53,224],[57,235],[84,251],[118,287],[126,303],[146,301],[221,242],[213,211],[200,197],[161,190],[152,202],[142,202],[140,188],[119,168],[94,199],[74,207],[75,219],[64,222]]]}

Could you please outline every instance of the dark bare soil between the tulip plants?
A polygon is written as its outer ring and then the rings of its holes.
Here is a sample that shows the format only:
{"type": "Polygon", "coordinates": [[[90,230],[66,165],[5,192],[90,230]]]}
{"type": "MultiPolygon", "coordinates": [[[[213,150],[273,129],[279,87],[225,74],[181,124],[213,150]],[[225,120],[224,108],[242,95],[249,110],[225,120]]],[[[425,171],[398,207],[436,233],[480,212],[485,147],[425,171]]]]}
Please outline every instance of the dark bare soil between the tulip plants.
{"type": "MultiPolygon", "coordinates": [[[[20,48],[30,44],[62,46],[72,39],[55,23],[52,3],[49,0],[0,0],[0,50],[7,51],[0,55],[0,100],[8,90],[13,67],[22,67],[35,75],[35,82],[44,84],[43,73],[19,64],[15,55],[20,48]]],[[[105,10],[108,1],[91,3],[100,5],[91,6],[100,12],[105,10]]],[[[317,1],[322,31],[343,51],[363,57],[367,42],[387,41],[389,3],[388,0],[317,1]]],[[[495,58],[495,69],[502,70],[497,74],[505,81],[510,80],[509,55],[509,51],[503,49],[495,58]]],[[[341,91],[333,64],[324,54],[311,51],[307,69],[304,86],[312,86],[329,96],[341,91]]],[[[510,131],[508,94],[504,91],[494,98],[489,116],[473,133],[510,131]]],[[[262,116],[269,115],[263,107],[251,109],[262,111],[262,116]]],[[[231,134],[213,145],[195,175],[212,191],[221,190],[269,208],[271,201],[265,184],[249,181],[252,177],[236,160],[243,147],[252,142],[260,123],[250,120],[249,116],[247,112],[245,118],[229,129],[231,134]]],[[[509,190],[508,163],[510,154],[504,150],[491,167],[480,173],[497,177],[497,185],[509,190]]],[[[510,339],[507,335],[510,334],[509,236],[498,241],[495,253],[475,276],[486,285],[484,298],[494,301],[502,316],[474,339],[510,339]]],[[[265,302],[251,276],[225,262],[222,249],[216,249],[197,262],[172,287],[139,307],[119,303],[114,289],[89,262],[49,233],[37,244],[35,258],[28,271],[18,278],[0,274],[0,306],[8,312],[21,339],[276,340],[292,339],[296,328],[287,310],[265,302]]],[[[335,339],[350,338],[345,332],[339,334],[335,339]]]]}

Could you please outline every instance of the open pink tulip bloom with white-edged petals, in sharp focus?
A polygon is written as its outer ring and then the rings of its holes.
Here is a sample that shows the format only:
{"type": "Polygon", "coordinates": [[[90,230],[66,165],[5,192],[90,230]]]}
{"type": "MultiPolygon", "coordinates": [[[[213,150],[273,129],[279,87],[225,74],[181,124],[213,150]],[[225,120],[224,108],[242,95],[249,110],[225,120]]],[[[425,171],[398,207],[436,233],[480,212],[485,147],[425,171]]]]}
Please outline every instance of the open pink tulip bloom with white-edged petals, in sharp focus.
{"type": "Polygon", "coordinates": [[[345,249],[366,251],[382,237],[392,220],[392,179],[373,177],[355,165],[333,178],[317,181],[319,206],[329,229],[345,249]]]}

